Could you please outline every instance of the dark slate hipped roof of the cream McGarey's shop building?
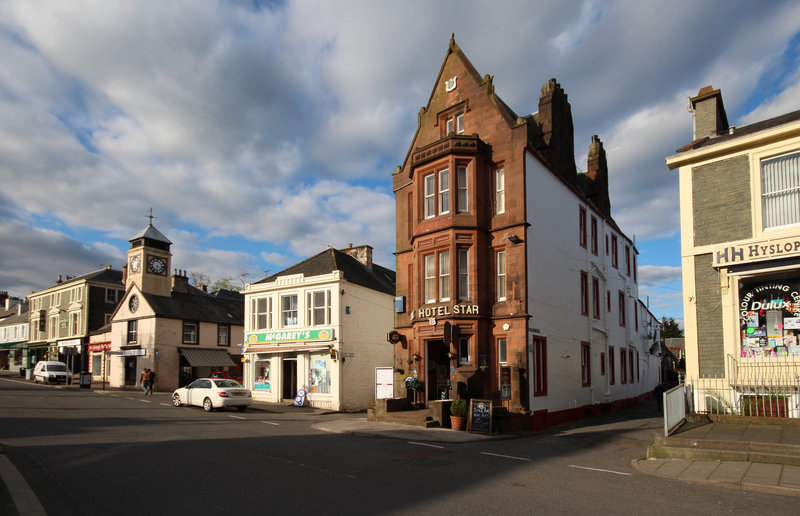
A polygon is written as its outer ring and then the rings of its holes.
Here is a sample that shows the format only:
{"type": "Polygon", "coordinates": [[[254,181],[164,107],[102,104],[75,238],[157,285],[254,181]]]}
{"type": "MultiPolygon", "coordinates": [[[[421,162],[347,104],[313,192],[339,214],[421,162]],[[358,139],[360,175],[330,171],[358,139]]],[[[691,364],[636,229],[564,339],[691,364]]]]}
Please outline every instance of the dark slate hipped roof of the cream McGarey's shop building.
{"type": "Polygon", "coordinates": [[[375,263],[372,264],[372,269],[370,269],[356,258],[338,249],[326,249],[311,258],[255,283],[271,283],[281,276],[290,276],[292,274],[303,274],[305,277],[311,277],[330,274],[333,271],[341,271],[344,279],[350,283],[385,294],[395,295],[396,293],[395,272],[393,270],[375,263]]]}

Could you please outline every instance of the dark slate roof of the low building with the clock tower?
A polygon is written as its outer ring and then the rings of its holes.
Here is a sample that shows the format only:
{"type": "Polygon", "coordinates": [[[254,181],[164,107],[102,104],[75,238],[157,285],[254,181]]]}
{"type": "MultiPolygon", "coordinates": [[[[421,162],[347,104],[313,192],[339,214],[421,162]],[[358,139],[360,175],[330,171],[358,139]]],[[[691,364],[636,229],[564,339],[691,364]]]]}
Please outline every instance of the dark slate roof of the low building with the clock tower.
{"type": "Polygon", "coordinates": [[[170,296],[142,293],[142,296],[157,317],[239,326],[244,324],[244,296],[241,294],[220,297],[190,286],[186,293],[173,291],[170,296]]]}

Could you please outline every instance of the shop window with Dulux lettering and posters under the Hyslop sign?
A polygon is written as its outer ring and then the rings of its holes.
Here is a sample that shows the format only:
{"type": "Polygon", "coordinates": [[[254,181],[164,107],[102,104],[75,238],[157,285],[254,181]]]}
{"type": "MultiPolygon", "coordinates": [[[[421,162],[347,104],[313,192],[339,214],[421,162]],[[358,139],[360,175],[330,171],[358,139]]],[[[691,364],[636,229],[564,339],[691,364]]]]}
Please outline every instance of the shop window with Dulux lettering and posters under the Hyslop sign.
{"type": "Polygon", "coordinates": [[[741,356],[800,356],[800,280],[739,283],[741,356]]]}

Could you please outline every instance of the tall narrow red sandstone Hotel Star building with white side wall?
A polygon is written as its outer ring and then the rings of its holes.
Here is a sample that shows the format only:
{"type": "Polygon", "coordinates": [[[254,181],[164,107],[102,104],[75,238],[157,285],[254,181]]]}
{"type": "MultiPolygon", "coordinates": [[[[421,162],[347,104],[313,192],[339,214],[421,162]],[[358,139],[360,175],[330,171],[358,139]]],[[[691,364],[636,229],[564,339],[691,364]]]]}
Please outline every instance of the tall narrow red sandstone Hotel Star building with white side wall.
{"type": "Polygon", "coordinates": [[[491,399],[541,427],[652,390],[657,321],[638,300],[607,174],[596,137],[576,173],[555,79],[538,113],[517,116],[451,39],[392,178],[390,340],[396,371],[421,382],[416,401],[491,399]]]}

